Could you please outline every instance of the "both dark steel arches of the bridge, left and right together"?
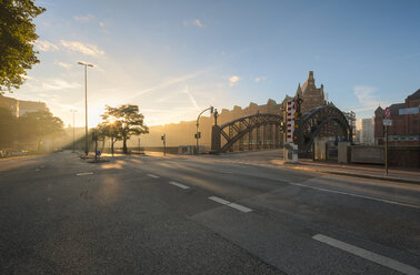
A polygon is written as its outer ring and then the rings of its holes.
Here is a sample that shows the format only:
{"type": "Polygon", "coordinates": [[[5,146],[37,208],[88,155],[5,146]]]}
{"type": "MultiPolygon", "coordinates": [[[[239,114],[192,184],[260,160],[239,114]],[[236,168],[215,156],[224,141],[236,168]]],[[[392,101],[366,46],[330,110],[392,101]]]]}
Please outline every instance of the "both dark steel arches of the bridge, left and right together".
{"type": "MultiPolygon", "coordinates": [[[[282,143],[283,116],[257,113],[212,126],[211,151],[213,153],[243,150],[278,149],[282,143]]],[[[333,105],[317,106],[304,113],[298,122],[296,135],[301,155],[308,155],[314,139],[329,129],[331,135],[348,136],[351,128],[344,114],[333,105]],[[333,123],[333,124],[332,124],[333,123]]],[[[328,131],[327,131],[328,132],[328,131]]]]}

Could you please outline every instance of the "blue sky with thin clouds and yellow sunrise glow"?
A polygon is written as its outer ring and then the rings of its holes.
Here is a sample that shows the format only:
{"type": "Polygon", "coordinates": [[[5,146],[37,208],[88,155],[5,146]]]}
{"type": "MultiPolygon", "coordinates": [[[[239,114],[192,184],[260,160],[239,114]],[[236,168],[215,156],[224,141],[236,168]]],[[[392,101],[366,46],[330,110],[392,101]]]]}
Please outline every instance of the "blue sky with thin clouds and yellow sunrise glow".
{"type": "Polygon", "coordinates": [[[328,100],[371,118],[420,89],[420,1],[39,0],[39,64],[13,98],[89,126],[106,104],[139,105],[148,125],[213,105],[281,102],[314,72],[328,100]]]}

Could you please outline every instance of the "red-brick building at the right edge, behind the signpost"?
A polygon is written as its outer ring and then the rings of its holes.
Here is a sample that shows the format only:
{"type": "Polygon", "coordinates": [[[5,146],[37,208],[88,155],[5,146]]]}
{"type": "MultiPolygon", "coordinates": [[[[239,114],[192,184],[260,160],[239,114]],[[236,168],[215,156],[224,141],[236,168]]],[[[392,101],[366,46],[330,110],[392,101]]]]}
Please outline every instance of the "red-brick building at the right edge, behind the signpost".
{"type": "MultiPolygon", "coordinates": [[[[392,126],[388,128],[388,141],[392,144],[420,144],[420,89],[407,96],[404,103],[396,103],[389,106],[392,126]],[[413,112],[404,112],[407,109],[413,112]],[[417,110],[417,112],[416,112],[417,110]],[[407,113],[407,114],[404,114],[407,113]]],[[[384,142],[383,128],[384,110],[381,106],[374,111],[374,141],[377,144],[384,142]]]]}

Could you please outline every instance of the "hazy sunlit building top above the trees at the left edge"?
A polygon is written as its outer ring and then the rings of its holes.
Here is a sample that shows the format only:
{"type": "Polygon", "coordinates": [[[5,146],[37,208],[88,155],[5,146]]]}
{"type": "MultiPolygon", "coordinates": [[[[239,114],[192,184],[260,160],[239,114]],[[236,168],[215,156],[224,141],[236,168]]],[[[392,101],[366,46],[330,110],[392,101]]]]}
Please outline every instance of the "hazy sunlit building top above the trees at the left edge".
{"type": "Polygon", "coordinates": [[[17,118],[30,112],[48,111],[44,102],[17,100],[1,94],[0,108],[10,110],[10,112],[17,118]]]}

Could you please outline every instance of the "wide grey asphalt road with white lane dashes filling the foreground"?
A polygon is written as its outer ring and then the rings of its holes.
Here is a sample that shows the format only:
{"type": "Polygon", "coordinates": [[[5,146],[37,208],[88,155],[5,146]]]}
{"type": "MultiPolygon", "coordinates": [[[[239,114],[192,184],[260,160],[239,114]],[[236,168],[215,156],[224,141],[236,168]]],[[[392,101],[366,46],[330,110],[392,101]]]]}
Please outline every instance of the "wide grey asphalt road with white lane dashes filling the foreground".
{"type": "Polygon", "coordinates": [[[278,151],[0,161],[0,274],[420,274],[420,185],[278,151]]]}

